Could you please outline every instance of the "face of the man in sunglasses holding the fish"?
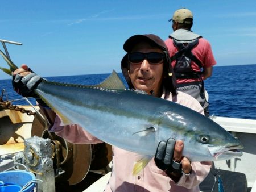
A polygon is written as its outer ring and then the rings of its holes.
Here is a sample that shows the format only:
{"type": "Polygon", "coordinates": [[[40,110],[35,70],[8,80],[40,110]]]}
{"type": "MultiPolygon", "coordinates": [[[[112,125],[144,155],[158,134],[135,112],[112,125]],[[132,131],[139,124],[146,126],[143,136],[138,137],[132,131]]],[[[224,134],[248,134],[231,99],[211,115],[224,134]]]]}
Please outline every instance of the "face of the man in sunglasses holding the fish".
{"type": "MultiPolygon", "coordinates": [[[[146,42],[135,45],[131,53],[134,52],[163,53],[161,49],[152,47],[146,42]]],[[[159,96],[162,91],[160,89],[162,89],[161,84],[163,79],[163,60],[157,64],[150,63],[147,59],[144,59],[140,63],[130,62],[129,77],[135,89],[146,91],[148,94],[151,94],[152,91],[154,91],[154,95],[159,96]]]]}

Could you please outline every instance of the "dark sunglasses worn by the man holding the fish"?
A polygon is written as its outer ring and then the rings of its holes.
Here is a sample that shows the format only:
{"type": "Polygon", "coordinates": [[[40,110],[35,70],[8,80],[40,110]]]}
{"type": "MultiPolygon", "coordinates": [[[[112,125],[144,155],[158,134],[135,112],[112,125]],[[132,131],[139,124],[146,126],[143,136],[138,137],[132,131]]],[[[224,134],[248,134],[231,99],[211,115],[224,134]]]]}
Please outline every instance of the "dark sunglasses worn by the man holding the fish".
{"type": "Polygon", "coordinates": [[[148,62],[151,64],[159,64],[163,61],[164,54],[158,52],[150,52],[150,53],[141,53],[141,52],[134,52],[129,53],[128,59],[130,62],[134,64],[140,64],[144,59],[147,59],[148,62]]]}

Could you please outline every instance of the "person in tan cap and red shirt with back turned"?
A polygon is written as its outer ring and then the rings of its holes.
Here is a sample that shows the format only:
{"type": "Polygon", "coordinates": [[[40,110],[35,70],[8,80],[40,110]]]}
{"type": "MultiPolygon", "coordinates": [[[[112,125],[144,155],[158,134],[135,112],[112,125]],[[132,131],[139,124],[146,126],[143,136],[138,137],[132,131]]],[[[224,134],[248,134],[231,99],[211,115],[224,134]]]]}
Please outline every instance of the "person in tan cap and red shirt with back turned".
{"type": "Polygon", "coordinates": [[[169,22],[171,21],[174,32],[165,43],[177,78],[177,90],[196,98],[204,108],[205,116],[209,116],[204,80],[212,76],[213,65],[216,65],[210,43],[191,31],[191,10],[176,10],[169,22]]]}

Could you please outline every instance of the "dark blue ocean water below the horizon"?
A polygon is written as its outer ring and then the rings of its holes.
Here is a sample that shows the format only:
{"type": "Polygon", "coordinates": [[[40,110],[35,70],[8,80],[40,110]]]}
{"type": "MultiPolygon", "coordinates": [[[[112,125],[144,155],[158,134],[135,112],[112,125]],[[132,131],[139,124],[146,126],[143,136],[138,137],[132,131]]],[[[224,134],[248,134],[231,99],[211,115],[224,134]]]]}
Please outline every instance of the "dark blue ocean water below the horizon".
{"type": "MultiPolygon", "coordinates": [[[[48,81],[93,85],[99,84],[108,76],[109,74],[90,74],[46,78],[48,81]]],[[[121,73],[119,76],[124,81],[121,73]]],[[[256,64],[214,67],[212,77],[205,80],[205,89],[209,94],[210,115],[256,119],[255,80],[256,64]]],[[[13,105],[27,105],[27,102],[13,90],[11,80],[0,80],[0,90],[2,89],[7,93],[7,98],[3,95],[3,100],[22,99],[13,101],[13,105]]],[[[35,99],[29,100],[35,105],[35,99]]]]}

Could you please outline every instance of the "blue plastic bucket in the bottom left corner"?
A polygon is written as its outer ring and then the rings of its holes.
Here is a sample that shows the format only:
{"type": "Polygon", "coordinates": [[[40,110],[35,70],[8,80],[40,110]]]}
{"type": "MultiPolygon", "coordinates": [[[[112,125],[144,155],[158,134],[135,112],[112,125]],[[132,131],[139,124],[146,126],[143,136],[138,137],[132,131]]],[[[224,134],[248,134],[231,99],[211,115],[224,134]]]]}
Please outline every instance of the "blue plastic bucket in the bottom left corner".
{"type": "MultiPolygon", "coordinates": [[[[0,172],[0,192],[18,192],[24,185],[36,177],[33,173],[25,170],[9,170],[6,172],[0,172]],[[2,183],[2,184],[1,184],[2,183]]],[[[35,182],[31,182],[23,192],[32,192],[35,189],[35,182]]]]}

